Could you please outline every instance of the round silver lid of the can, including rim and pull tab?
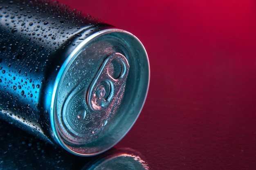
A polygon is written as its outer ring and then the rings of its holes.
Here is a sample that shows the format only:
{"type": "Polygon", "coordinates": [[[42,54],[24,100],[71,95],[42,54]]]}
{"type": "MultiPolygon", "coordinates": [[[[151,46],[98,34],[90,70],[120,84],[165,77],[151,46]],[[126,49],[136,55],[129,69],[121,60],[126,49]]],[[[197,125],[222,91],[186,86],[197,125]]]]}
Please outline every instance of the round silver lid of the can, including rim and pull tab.
{"type": "Polygon", "coordinates": [[[90,35],[56,77],[50,117],[56,140],[76,155],[108,150],[136,121],[148,84],[148,57],[134,35],[121,29],[90,35]]]}

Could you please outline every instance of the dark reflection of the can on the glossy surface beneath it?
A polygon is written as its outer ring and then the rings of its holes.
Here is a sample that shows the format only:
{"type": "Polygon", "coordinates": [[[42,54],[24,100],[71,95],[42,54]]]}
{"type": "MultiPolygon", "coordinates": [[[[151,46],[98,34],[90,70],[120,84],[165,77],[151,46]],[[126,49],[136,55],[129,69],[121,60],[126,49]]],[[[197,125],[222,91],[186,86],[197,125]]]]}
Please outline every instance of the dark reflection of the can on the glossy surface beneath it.
{"type": "Polygon", "coordinates": [[[17,133],[17,128],[6,122],[0,122],[0,131],[1,170],[148,170],[144,156],[131,148],[112,148],[98,156],[79,157],[24,131],[17,133]]]}

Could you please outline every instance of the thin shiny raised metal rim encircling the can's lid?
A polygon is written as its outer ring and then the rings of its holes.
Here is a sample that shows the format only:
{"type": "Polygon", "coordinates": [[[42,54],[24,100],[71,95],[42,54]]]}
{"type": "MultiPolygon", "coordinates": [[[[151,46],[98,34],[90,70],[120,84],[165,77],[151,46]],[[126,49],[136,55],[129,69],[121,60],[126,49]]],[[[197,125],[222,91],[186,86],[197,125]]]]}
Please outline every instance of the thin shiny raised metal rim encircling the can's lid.
{"type": "MultiPolygon", "coordinates": [[[[145,59],[144,59],[145,60],[145,59]]],[[[65,148],[65,150],[71,152],[72,154],[74,155],[79,155],[79,156],[93,156],[93,155],[98,155],[102,152],[105,152],[106,150],[112,148],[115,144],[117,144],[127,133],[128,131],[130,130],[130,128],[134,125],[135,121],[137,120],[138,116],[140,115],[141,113],[141,110],[145,104],[145,101],[146,101],[146,96],[148,94],[148,88],[149,88],[149,82],[150,82],[150,64],[149,64],[149,60],[148,60],[148,55],[146,53],[146,49],[145,47],[143,46],[143,44],[141,43],[141,41],[135,36],[133,35],[132,33],[128,32],[128,31],[125,31],[125,30],[122,30],[122,29],[105,29],[105,30],[101,30],[101,31],[98,31],[96,33],[93,33],[92,35],[88,36],[87,38],[85,38],[85,40],[83,40],[78,46],[76,46],[76,48],[68,55],[67,59],[65,60],[65,62],[63,63],[63,65],[61,66],[57,76],[56,76],[56,79],[55,79],[55,82],[54,82],[54,86],[53,86],[53,92],[52,92],[52,101],[51,101],[51,106],[50,106],[50,124],[51,124],[51,127],[52,127],[52,131],[53,131],[53,134],[54,134],[54,138],[55,140],[58,142],[58,144],[60,144],[63,148],[65,148]],[[135,40],[137,40],[137,42],[141,45],[141,49],[144,51],[144,55],[146,56],[146,62],[147,62],[147,65],[148,65],[148,82],[147,83],[147,89],[146,89],[146,94],[145,94],[145,97],[144,97],[144,101],[142,102],[142,105],[141,105],[141,108],[140,110],[138,110],[138,114],[137,114],[137,117],[134,119],[134,121],[132,122],[131,126],[126,130],[126,132],[124,133],[124,135],[122,135],[115,143],[113,143],[109,148],[106,148],[104,150],[101,150],[100,152],[97,152],[97,153],[93,153],[93,154],[81,154],[81,153],[78,153],[78,152],[75,152],[74,150],[71,150],[69,147],[67,147],[67,144],[65,144],[63,142],[63,140],[61,139],[61,136],[59,135],[58,133],[58,129],[57,129],[57,125],[56,125],[56,116],[55,116],[55,107],[56,107],[56,98],[57,98],[57,92],[58,92],[58,86],[61,82],[61,78],[63,77],[63,74],[65,73],[65,70],[67,68],[67,66],[69,65],[69,63],[73,60],[73,58],[75,57],[75,55],[79,52],[79,50],[85,46],[85,44],[89,43],[90,41],[92,41],[94,38],[97,38],[101,35],[105,35],[105,34],[108,34],[108,33],[114,33],[114,32],[120,32],[120,33],[126,33],[130,36],[132,36],[133,38],[135,38],[135,40]]]]}

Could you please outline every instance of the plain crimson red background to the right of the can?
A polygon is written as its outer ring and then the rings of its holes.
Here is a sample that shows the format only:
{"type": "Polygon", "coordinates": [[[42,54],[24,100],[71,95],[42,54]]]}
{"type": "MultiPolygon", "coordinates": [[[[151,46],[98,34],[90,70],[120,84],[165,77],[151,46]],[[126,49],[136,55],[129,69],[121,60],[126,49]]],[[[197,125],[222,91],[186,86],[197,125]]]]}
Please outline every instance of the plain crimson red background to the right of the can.
{"type": "Polygon", "coordinates": [[[134,33],[151,67],[146,104],[116,148],[151,169],[256,168],[254,0],[59,0],[134,33]]]}

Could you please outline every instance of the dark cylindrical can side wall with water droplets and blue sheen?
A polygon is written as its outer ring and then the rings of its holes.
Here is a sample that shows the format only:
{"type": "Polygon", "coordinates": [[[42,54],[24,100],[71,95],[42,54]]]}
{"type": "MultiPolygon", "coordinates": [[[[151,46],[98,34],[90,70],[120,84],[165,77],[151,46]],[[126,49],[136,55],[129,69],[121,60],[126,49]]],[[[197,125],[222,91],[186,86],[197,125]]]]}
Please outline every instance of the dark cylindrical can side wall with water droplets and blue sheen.
{"type": "Polygon", "coordinates": [[[56,142],[49,116],[56,76],[76,46],[99,31],[99,24],[47,2],[0,3],[0,117],[56,142]]]}

